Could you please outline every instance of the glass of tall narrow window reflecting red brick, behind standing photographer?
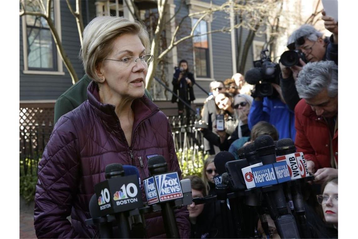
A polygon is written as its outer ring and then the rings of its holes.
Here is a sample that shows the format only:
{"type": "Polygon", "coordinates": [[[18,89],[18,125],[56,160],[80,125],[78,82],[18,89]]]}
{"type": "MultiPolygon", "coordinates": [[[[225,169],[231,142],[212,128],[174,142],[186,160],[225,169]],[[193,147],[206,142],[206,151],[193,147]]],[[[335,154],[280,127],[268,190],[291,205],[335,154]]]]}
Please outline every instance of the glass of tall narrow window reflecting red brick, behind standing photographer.
{"type": "MultiPolygon", "coordinates": [[[[198,19],[193,18],[192,27],[197,23],[198,19]]],[[[196,76],[210,78],[210,60],[209,60],[209,44],[208,35],[200,35],[208,32],[208,24],[201,20],[194,30],[194,35],[199,35],[193,38],[194,56],[196,76]]]]}

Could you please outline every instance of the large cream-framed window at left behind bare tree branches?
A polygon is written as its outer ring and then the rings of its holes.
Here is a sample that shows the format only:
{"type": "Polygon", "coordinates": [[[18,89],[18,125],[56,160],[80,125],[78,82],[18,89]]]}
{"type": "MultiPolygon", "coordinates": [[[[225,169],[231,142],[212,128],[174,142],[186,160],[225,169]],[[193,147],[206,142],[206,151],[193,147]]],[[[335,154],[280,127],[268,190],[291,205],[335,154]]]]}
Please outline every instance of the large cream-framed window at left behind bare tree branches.
{"type": "MultiPolygon", "coordinates": [[[[46,6],[47,1],[44,0],[46,6]]],[[[36,1],[25,1],[26,11],[42,12],[36,1]]],[[[61,38],[59,1],[53,1],[51,19],[61,38]]],[[[47,21],[40,16],[25,15],[23,20],[24,73],[64,75],[47,21]]]]}

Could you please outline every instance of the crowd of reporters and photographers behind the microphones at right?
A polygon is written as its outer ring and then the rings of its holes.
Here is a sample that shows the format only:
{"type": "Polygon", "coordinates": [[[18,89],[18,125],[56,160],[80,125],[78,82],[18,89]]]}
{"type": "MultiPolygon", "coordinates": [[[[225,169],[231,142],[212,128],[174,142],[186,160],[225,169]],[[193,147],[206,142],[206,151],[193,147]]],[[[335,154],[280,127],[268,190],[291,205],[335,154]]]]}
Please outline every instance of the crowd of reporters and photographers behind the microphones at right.
{"type": "MultiPolygon", "coordinates": [[[[274,140],[290,138],[295,142],[297,152],[304,153],[308,171],[315,178],[305,186],[310,233],[314,238],[337,238],[338,24],[324,11],[322,19],[326,29],[332,32],[330,37],[324,38],[308,24],[290,35],[287,48],[303,53],[305,59],[300,58],[299,64],[291,67],[279,62],[279,83],[271,82],[272,95],[256,94],[257,85],[244,88],[248,84],[240,73],[224,81],[210,82],[211,94],[201,111],[202,125],[206,126],[200,129],[209,157],[204,163],[202,181],[197,176],[188,178],[193,189],[202,185],[200,195],[213,195],[212,178],[217,175],[213,159],[216,154],[229,151],[240,159],[239,149],[260,135],[270,135],[274,140]],[[224,116],[224,130],[217,129],[217,115],[224,116]]],[[[220,226],[213,224],[215,220],[208,214],[213,208],[211,204],[188,206],[193,238],[220,238],[223,235],[220,226]],[[194,214],[193,210],[198,207],[200,213],[194,214]],[[200,215],[205,216],[201,219],[200,215]]],[[[269,214],[267,221],[269,236],[280,238],[269,214]]],[[[267,236],[260,220],[257,233],[262,238],[267,236]]]]}

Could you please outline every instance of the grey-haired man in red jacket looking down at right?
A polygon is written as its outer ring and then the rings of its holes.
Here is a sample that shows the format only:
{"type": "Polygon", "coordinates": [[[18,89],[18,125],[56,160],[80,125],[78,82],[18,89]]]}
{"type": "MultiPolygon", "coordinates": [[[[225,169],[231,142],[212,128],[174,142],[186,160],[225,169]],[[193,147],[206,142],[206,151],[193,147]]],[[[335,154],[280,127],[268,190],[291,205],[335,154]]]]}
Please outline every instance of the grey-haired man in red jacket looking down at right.
{"type": "Polygon", "coordinates": [[[315,182],[338,177],[338,66],[333,61],[306,64],[296,89],[295,145],[303,152],[315,182]]]}

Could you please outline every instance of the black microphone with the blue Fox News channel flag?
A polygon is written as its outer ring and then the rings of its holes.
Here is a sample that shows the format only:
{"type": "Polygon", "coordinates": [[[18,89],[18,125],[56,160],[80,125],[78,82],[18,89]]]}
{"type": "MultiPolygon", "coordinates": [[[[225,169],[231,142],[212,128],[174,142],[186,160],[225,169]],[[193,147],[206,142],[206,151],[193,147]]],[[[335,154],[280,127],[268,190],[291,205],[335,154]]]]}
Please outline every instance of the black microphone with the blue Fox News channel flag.
{"type": "Polygon", "coordinates": [[[167,238],[180,238],[173,210],[174,200],[183,197],[178,173],[168,173],[168,165],[161,155],[151,157],[148,160],[148,168],[155,182],[166,236],[167,238]]]}

